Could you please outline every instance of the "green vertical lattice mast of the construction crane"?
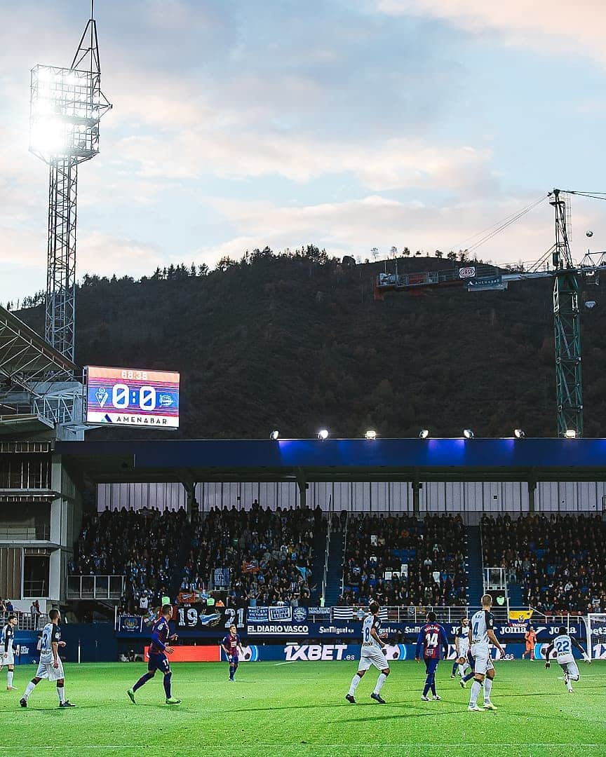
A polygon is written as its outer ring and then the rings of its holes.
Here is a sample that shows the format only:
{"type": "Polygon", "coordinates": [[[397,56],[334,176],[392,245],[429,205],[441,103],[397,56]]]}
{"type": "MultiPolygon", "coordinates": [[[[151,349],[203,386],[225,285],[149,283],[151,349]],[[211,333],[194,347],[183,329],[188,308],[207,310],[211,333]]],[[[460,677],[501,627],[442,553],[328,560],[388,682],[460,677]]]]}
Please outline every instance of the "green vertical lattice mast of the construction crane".
{"type": "Polygon", "coordinates": [[[558,436],[583,435],[583,382],[579,281],[570,254],[570,206],[559,189],[551,194],[555,210],[554,281],[555,385],[558,436]]]}

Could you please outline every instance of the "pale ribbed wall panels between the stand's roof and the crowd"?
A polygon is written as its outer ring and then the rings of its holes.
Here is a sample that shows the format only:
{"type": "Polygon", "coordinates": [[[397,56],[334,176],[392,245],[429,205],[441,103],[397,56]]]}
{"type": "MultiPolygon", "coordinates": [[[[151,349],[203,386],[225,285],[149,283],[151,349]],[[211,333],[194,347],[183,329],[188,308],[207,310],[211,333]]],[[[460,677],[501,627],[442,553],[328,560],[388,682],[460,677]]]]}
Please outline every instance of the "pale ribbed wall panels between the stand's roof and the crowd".
{"type": "MultiPolygon", "coordinates": [[[[195,488],[196,500],[203,512],[213,507],[249,509],[258,500],[263,507],[298,506],[298,489],[294,482],[273,483],[201,483],[195,488]]],[[[536,488],[537,512],[601,512],[606,497],[606,483],[539,482],[536,488]]],[[[311,482],[308,506],[337,512],[413,512],[413,494],[408,481],[311,482]]],[[[181,484],[99,484],[97,509],[141,509],[186,507],[186,491],[181,484]]],[[[423,484],[420,491],[421,512],[528,512],[528,488],[525,483],[495,481],[469,483],[451,481],[423,484]]]]}

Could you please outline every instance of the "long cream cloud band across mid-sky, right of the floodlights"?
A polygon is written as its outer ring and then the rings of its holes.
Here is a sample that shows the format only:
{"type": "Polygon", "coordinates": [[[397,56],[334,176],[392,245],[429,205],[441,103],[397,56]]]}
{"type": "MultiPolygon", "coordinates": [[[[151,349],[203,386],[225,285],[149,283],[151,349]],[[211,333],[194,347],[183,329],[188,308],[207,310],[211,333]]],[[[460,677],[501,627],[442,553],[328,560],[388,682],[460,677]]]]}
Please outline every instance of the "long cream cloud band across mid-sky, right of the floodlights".
{"type": "Polygon", "coordinates": [[[231,179],[283,176],[306,182],[354,174],[374,192],[399,188],[477,188],[494,181],[491,153],[468,146],[440,147],[420,139],[374,144],[315,141],[275,133],[228,134],[184,131],[172,138],[132,136],[118,151],[139,176],[197,179],[214,173],[231,179]]]}

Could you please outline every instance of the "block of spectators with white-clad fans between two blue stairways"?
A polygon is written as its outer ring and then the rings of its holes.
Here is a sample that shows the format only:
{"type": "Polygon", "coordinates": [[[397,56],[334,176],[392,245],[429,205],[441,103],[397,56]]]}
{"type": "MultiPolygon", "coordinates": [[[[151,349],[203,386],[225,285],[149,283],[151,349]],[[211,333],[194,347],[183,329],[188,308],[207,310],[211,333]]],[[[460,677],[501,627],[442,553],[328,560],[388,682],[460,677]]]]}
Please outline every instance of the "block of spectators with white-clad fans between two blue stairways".
{"type": "Polygon", "coordinates": [[[349,516],[340,604],[389,606],[466,603],[461,516],[349,516]],[[406,566],[406,567],[403,567],[406,566]],[[395,572],[391,581],[385,573],[395,572]]]}

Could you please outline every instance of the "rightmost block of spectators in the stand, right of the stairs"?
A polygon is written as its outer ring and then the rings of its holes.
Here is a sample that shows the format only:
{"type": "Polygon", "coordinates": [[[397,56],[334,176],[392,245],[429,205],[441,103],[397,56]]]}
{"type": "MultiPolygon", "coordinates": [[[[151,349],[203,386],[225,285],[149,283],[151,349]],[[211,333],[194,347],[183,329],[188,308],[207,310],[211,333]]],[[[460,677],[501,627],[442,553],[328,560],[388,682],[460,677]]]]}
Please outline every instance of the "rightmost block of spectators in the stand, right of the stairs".
{"type": "Polygon", "coordinates": [[[522,585],[545,615],[606,610],[606,525],[601,516],[483,516],[484,564],[522,585]]]}

